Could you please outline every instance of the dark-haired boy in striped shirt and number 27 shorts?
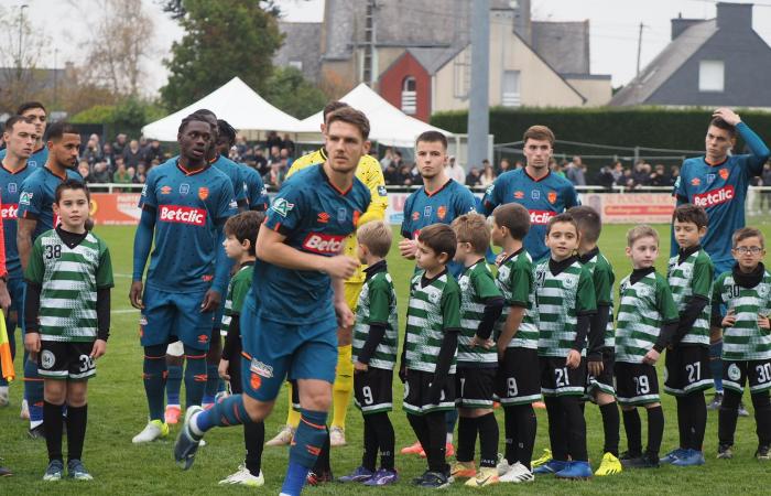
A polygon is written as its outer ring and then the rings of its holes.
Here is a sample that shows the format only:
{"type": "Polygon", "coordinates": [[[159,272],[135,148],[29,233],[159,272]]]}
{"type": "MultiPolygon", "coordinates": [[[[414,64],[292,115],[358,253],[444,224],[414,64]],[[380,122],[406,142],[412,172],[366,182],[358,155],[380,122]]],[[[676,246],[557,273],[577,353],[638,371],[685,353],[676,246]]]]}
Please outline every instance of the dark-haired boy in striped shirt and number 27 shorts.
{"type": "Polygon", "coordinates": [[[702,248],[708,217],[704,208],[683,204],[672,214],[680,249],[670,258],[666,279],[680,312],[677,331],[666,351],[664,392],[677,400],[680,445],[661,459],[676,466],[704,464],[707,403],[704,391],[713,386],[709,373],[709,299],[715,273],[702,248]]]}

